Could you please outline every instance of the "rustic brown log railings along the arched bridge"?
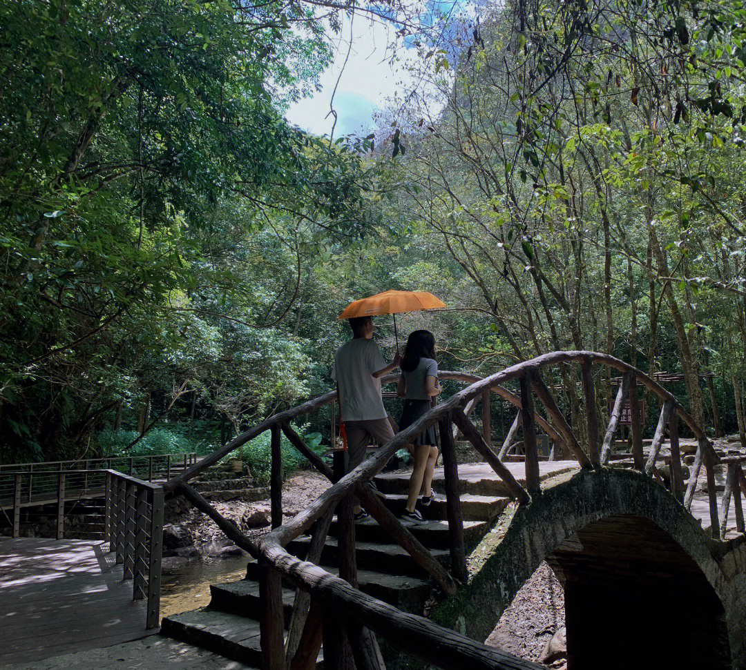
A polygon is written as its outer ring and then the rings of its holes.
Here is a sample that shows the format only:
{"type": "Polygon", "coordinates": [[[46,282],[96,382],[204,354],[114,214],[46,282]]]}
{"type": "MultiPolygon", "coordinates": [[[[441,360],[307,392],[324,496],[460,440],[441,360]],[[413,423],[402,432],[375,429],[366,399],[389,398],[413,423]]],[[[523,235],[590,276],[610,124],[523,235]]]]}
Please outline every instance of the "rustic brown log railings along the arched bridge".
{"type": "MultiPolygon", "coordinates": [[[[674,497],[686,505],[691,505],[701,465],[704,464],[708,481],[710,516],[712,534],[719,537],[717,498],[715,493],[715,465],[727,462],[718,458],[706,434],[689,413],[668,391],[665,391],[655,380],[645,373],[636,370],[624,361],[610,355],[589,352],[569,351],[546,354],[524,361],[502,370],[485,379],[478,379],[463,373],[440,373],[441,379],[462,379],[471,382],[468,388],[459,391],[440,405],[436,405],[412,426],[395,435],[385,445],[353,472],[348,473],[328,488],[306,510],[299,513],[289,522],[282,522],[282,509],[279,489],[279,467],[281,466],[280,432],[284,432],[291,443],[309,461],[327,477],[332,477],[330,468],[319,459],[290,427],[290,421],[304,414],[316,411],[334,400],[329,393],[287,411],[269,417],[251,430],[236,437],[222,449],[208,455],[199,464],[188,468],[166,483],[166,489],[178,490],[197,508],[207,513],[219,527],[236,544],[245,549],[260,563],[260,599],[263,604],[261,621],[261,646],[263,666],[266,670],[300,670],[310,668],[316,661],[319,648],[325,647],[325,666],[348,669],[352,663],[358,669],[382,669],[377,638],[374,633],[386,638],[395,648],[414,657],[433,663],[442,668],[461,669],[468,664],[475,668],[527,668],[539,667],[515,659],[509,654],[502,654],[493,648],[487,648],[474,640],[461,636],[454,631],[434,625],[423,617],[404,614],[371,598],[357,590],[357,563],[355,560],[354,524],[352,522],[352,496],[358,496],[371,516],[401,545],[421,567],[423,567],[442,587],[445,592],[454,592],[457,582],[466,576],[466,551],[463,539],[463,514],[460,502],[460,483],[458,478],[457,452],[454,435],[463,433],[482,458],[495,470],[504,481],[507,490],[519,505],[525,505],[533,497],[541,495],[539,482],[539,455],[536,448],[536,427],[542,426],[550,432],[553,440],[562,441],[564,447],[577,460],[579,467],[594,469],[606,467],[612,456],[615,434],[621,418],[624,401],[629,399],[630,406],[635,408],[637,389],[645,387],[657,396],[662,404],[662,411],[656,426],[653,443],[647,461],[642,449],[642,417],[633,412],[632,454],[633,464],[644,475],[655,478],[664,484],[656,466],[660,458],[660,448],[665,434],[665,426],[671,435],[671,478],[670,488],[674,497]],[[542,372],[547,367],[565,364],[579,364],[581,386],[585,396],[586,439],[585,446],[574,432],[571,423],[565,419],[554,397],[553,385],[547,385],[542,372]],[[592,366],[601,364],[622,373],[622,380],[612,408],[609,424],[603,440],[599,431],[599,420],[596,410],[595,385],[592,366]],[[507,391],[504,384],[516,380],[520,394],[507,391]],[[500,452],[495,453],[489,440],[489,432],[480,431],[468,417],[474,403],[482,399],[489,414],[489,394],[499,394],[518,407],[518,415],[513,422],[500,452]],[[551,425],[535,411],[534,397],[544,405],[551,420],[551,425]],[[485,402],[487,399],[487,402],[485,402]],[[680,454],[678,443],[678,422],[688,427],[698,440],[695,464],[689,487],[683,490],[683,478],[680,473],[680,454]],[[518,425],[524,433],[524,481],[519,483],[501,460],[501,455],[510,447],[518,425]],[[401,449],[420,432],[430,426],[438,426],[441,439],[443,467],[445,475],[446,508],[451,538],[451,571],[436,561],[430,552],[419,543],[419,540],[393,516],[382,502],[374,495],[369,482],[383,469],[389,458],[401,449]],[[187,484],[189,478],[210,467],[220,458],[237,449],[242,444],[254,439],[257,435],[270,430],[272,432],[272,525],[274,529],[262,537],[258,543],[249,539],[228,519],[223,518],[192,487],[187,484]],[[275,482],[275,475],[277,483],[275,482]],[[330,527],[332,515],[338,519],[337,537],[339,541],[339,577],[330,575],[314,563],[319,560],[322,546],[330,527]],[[300,534],[311,532],[307,560],[289,554],[284,549],[288,543],[300,534]],[[283,604],[281,582],[289,581],[297,587],[295,604],[292,611],[289,633],[283,634],[283,604]]],[[[389,376],[384,382],[392,382],[397,376],[389,376]]],[[[489,423],[487,424],[489,426],[489,423]]],[[[489,428],[488,428],[489,430],[489,428]]],[[[730,466],[729,466],[730,467],[730,466]]],[[[730,489],[726,487],[723,508],[724,516],[730,504],[730,496],[739,486],[745,487],[740,470],[740,461],[733,461],[729,469],[730,489]]],[[[735,500],[735,498],[734,498],[735,500]]],[[[740,498],[736,506],[736,522],[742,525],[740,498]],[[740,518],[740,521],[739,521],[740,518]]]]}

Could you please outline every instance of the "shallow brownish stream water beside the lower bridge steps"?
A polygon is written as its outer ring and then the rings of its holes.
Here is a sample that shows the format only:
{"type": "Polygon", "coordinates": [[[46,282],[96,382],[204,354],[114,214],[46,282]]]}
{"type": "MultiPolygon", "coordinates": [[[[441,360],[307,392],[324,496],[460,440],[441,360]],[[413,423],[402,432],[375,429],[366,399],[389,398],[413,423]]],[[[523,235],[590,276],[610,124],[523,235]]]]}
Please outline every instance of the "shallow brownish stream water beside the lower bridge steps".
{"type": "Polygon", "coordinates": [[[237,581],[246,576],[247,557],[194,558],[178,575],[163,575],[160,616],[196,610],[210,603],[210,584],[237,581]]]}

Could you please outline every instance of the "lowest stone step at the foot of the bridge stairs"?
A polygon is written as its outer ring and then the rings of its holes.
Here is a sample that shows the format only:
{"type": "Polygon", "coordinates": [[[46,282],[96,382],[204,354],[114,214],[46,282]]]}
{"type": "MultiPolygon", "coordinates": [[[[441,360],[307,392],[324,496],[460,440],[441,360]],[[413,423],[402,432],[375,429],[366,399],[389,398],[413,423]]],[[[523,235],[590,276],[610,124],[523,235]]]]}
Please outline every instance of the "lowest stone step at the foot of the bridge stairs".
{"type": "Polygon", "coordinates": [[[203,608],[167,616],[160,632],[239,663],[262,667],[259,622],[255,619],[203,608]]]}

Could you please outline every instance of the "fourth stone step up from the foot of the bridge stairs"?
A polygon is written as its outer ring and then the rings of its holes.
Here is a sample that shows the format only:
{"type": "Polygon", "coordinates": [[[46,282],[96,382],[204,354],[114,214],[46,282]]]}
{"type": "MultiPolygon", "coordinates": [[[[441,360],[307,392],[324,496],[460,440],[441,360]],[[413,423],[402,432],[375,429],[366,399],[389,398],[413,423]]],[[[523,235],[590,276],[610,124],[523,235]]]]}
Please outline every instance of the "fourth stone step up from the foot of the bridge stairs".
{"type": "MultiPolygon", "coordinates": [[[[309,543],[310,537],[304,535],[289,543],[287,549],[292,554],[304,558],[309,543]]],[[[446,567],[451,562],[451,554],[448,549],[430,549],[430,553],[446,567]]],[[[355,544],[355,560],[357,560],[358,568],[361,569],[427,578],[427,572],[417,565],[410,554],[407,554],[398,544],[358,541],[355,544]]],[[[322,549],[321,562],[328,566],[339,565],[339,546],[336,537],[327,537],[324,549],[322,549]]]]}

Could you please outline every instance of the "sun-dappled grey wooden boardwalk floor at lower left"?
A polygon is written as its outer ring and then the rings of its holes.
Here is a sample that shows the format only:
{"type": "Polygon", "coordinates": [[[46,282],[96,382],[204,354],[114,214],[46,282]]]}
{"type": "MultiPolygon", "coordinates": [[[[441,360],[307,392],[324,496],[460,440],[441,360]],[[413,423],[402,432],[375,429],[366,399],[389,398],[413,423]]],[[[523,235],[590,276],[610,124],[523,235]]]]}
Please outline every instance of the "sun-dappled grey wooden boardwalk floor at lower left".
{"type": "Polygon", "coordinates": [[[145,630],[145,601],[100,540],[0,540],[0,666],[108,647],[145,630]]]}

